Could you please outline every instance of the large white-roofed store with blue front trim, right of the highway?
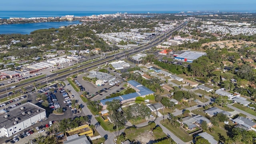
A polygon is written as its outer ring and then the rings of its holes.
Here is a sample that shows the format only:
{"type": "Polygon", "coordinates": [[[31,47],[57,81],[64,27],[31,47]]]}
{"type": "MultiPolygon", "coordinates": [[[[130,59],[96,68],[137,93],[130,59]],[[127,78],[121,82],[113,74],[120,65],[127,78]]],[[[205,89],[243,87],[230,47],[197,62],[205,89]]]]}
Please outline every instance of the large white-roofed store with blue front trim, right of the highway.
{"type": "Polygon", "coordinates": [[[186,51],[182,54],[174,54],[175,60],[182,61],[182,62],[193,62],[193,60],[198,59],[201,56],[206,55],[205,52],[192,52],[192,51],[186,51]]]}

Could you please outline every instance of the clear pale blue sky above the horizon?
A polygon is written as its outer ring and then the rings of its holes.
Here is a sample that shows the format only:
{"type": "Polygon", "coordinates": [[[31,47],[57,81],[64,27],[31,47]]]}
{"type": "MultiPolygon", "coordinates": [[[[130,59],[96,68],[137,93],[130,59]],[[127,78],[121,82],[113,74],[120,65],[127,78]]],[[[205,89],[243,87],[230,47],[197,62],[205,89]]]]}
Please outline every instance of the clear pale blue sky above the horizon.
{"type": "Polygon", "coordinates": [[[256,0],[1,0],[0,11],[256,11],[256,0]]]}

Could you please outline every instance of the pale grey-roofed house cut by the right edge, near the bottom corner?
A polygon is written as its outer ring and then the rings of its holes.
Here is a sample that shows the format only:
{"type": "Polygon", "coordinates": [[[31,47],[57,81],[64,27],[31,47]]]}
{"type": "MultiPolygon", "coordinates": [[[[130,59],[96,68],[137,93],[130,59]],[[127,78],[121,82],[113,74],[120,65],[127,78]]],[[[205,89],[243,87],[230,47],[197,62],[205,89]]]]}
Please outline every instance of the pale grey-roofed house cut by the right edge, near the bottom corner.
{"type": "Polygon", "coordinates": [[[234,124],[238,124],[235,127],[239,127],[239,128],[243,128],[244,130],[254,130],[256,131],[254,128],[256,127],[256,123],[253,122],[252,120],[239,116],[236,119],[232,120],[234,122],[234,124]]]}

